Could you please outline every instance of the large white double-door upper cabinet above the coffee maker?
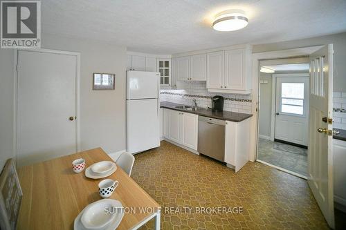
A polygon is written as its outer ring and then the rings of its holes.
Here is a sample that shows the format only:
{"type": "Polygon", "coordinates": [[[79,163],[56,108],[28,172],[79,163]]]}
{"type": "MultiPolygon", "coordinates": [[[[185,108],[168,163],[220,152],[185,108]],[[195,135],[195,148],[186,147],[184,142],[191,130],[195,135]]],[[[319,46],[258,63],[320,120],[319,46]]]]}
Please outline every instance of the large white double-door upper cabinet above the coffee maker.
{"type": "Polygon", "coordinates": [[[207,88],[217,93],[251,93],[251,46],[209,52],[207,88]]]}

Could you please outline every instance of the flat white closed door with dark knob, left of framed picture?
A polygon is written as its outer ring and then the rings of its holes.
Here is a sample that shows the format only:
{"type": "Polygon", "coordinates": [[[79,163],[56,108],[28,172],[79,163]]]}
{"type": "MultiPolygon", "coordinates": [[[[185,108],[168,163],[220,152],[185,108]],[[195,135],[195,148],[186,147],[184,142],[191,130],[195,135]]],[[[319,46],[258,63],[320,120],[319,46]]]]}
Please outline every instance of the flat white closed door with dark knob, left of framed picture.
{"type": "Polygon", "coordinates": [[[77,151],[76,74],[74,55],[18,51],[17,165],[77,151]]]}

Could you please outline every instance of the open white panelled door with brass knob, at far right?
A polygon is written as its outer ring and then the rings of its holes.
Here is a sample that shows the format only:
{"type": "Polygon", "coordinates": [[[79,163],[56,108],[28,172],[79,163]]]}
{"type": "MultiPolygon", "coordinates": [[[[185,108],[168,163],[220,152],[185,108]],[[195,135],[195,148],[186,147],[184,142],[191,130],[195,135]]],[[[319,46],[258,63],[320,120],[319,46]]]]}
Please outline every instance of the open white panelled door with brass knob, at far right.
{"type": "Polygon", "coordinates": [[[333,197],[333,45],[310,55],[308,183],[334,229],[333,197]],[[330,119],[330,122],[329,122],[330,119]]]}

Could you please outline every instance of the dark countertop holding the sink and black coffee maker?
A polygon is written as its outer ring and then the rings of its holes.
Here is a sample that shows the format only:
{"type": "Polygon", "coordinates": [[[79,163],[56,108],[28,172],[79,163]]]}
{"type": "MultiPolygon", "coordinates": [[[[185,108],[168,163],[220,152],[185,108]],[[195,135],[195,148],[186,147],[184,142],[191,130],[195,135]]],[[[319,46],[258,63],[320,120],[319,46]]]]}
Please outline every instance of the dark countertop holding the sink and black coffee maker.
{"type": "Polygon", "coordinates": [[[229,111],[223,111],[223,112],[213,112],[211,110],[208,110],[206,108],[200,108],[198,111],[188,111],[181,108],[175,108],[175,106],[182,106],[183,104],[176,104],[172,102],[161,102],[160,107],[162,108],[170,108],[174,109],[176,111],[184,111],[185,113],[193,113],[205,117],[211,117],[215,119],[224,119],[230,122],[242,122],[244,119],[248,119],[249,117],[252,117],[251,114],[246,113],[235,113],[235,112],[229,112],[229,111]]]}

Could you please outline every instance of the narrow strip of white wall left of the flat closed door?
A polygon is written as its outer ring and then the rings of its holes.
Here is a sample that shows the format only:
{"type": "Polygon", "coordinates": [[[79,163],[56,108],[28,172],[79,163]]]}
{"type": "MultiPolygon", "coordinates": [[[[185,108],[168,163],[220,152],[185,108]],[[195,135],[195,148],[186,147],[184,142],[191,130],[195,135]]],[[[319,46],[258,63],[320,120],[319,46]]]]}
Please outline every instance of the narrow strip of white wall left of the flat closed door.
{"type": "Polygon", "coordinates": [[[0,171],[13,157],[13,61],[14,52],[0,49],[0,171]]]}

